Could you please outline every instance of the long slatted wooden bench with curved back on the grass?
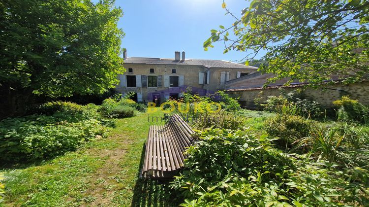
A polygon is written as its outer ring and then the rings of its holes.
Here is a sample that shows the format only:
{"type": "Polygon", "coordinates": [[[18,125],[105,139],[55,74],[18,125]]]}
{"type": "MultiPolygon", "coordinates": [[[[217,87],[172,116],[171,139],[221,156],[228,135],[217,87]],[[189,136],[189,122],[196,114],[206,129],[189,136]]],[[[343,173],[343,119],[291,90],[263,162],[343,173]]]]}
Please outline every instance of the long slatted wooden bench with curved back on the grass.
{"type": "Polygon", "coordinates": [[[183,152],[192,145],[193,133],[178,114],[171,116],[165,126],[150,126],[141,176],[156,179],[173,177],[187,158],[183,152]]]}

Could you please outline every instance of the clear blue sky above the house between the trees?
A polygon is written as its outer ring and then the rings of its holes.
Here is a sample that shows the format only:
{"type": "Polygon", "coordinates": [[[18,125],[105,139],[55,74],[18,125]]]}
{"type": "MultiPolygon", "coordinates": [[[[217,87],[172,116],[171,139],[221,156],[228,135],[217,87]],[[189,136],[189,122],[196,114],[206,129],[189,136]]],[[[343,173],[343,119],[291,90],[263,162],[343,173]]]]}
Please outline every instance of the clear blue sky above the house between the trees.
{"type": "MultiPolygon", "coordinates": [[[[249,6],[247,0],[226,3],[237,15],[249,6]]],[[[235,21],[230,15],[224,16],[221,4],[221,0],[116,0],[124,12],[118,23],[126,34],[122,47],[128,57],[174,58],[174,51],[184,50],[186,58],[241,60],[246,53],[223,54],[224,44],[220,42],[207,52],[202,47],[211,29],[235,21]]]]}

